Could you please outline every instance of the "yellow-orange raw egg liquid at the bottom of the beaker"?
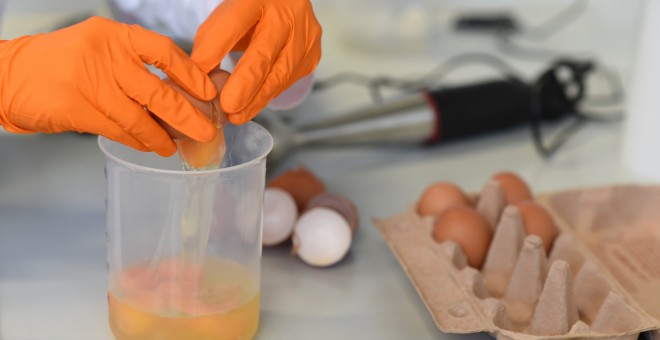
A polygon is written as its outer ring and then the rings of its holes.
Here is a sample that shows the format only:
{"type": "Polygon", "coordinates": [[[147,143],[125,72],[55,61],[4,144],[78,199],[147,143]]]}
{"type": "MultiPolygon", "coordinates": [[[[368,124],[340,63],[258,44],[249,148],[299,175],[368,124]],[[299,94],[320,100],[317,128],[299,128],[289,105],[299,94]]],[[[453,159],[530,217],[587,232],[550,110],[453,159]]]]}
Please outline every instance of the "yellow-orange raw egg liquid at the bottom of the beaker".
{"type": "Polygon", "coordinates": [[[239,265],[165,260],[117,276],[108,294],[118,340],[251,339],[259,325],[259,291],[239,265]]]}

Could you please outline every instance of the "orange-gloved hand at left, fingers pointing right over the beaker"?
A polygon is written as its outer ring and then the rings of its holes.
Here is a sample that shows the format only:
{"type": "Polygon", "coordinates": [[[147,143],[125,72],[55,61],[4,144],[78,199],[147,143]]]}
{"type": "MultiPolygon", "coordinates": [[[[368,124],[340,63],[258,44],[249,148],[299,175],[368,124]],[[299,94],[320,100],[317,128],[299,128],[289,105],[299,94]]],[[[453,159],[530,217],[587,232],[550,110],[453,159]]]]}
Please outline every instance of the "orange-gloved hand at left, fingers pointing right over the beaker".
{"type": "Polygon", "coordinates": [[[169,38],[95,17],[0,43],[0,124],[18,133],[100,134],[172,155],[176,145],[153,114],[193,139],[212,140],[210,119],[145,63],[195,97],[208,101],[217,94],[206,72],[169,38]]]}

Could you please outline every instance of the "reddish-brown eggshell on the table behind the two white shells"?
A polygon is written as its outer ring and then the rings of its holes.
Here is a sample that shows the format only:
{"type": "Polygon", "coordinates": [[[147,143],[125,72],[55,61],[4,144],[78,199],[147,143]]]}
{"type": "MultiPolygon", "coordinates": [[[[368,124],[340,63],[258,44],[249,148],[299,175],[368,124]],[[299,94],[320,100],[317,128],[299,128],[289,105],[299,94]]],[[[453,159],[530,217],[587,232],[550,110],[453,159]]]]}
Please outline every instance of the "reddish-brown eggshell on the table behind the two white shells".
{"type": "Polygon", "coordinates": [[[325,191],[325,184],[302,166],[273,178],[268,186],[290,193],[296,201],[298,211],[302,211],[312,197],[325,191]]]}

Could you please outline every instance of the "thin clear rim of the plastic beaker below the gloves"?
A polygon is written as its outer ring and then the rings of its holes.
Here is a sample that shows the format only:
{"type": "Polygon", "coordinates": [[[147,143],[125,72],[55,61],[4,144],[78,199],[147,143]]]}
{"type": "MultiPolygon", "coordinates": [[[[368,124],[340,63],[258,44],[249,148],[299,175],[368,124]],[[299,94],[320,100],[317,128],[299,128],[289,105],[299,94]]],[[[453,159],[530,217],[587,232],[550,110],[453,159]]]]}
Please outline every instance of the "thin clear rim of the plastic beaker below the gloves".
{"type": "MultiPolygon", "coordinates": [[[[268,130],[266,130],[263,126],[255,123],[255,122],[248,122],[245,125],[256,126],[257,128],[263,130],[268,135],[269,143],[268,143],[268,147],[266,148],[266,150],[264,150],[264,152],[259,154],[254,159],[252,159],[250,161],[247,161],[245,163],[241,163],[241,164],[233,165],[233,166],[228,166],[228,167],[223,167],[223,168],[219,168],[219,169],[211,169],[211,170],[195,170],[195,171],[168,170],[168,169],[157,169],[157,168],[150,168],[150,167],[144,166],[144,165],[138,165],[138,164],[135,164],[135,163],[131,163],[127,160],[124,160],[121,157],[118,157],[114,153],[110,152],[110,150],[108,150],[104,145],[104,143],[107,143],[107,142],[111,142],[111,143],[119,143],[119,142],[117,142],[115,140],[112,140],[110,138],[101,136],[101,135],[99,135],[97,141],[98,141],[98,144],[99,144],[99,148],[101,149],[101,151],[103,151],[103,154],[105,154],[106,157],[108,157],[108,158],[112,159],[113,161],[115,161],[119,164],[122,164],[125,167],[130,168],[130,169],[134,169],[134,170],[138,170],[138,171],[144,171],[144,172],[170,174],[170,175],[187,175],[187,176],[191,176],[191,175],[213,175],[213,174],[222,174],[222,173],[229,173],[229,172],[233,172],[233,171],[239,171],[239,170],[242,170],[244,168],[249,168],[251,166],[257,165],[257,164],[261,163],[268,156],[270,151],[273,149],[273,136],[270,134],[270,132],[268,132],[268,130]]],[[[121,143],[119,143],[119,144],[121,144],[121,143]]],[[[141,151],[135,150],[135,152],[141,152],[141,151]]]]}

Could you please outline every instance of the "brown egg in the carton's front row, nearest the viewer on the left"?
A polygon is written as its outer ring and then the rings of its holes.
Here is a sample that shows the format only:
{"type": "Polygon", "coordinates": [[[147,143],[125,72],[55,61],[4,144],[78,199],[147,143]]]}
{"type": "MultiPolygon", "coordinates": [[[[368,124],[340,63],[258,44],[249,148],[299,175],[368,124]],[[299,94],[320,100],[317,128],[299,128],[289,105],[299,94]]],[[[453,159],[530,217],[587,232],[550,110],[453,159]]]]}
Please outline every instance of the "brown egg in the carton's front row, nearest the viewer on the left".
{"type": "Polygon", "coordinates": [[[481,268],[486,258],[492,236],[486,219],[469,206],[448,208],[438,216],[433,229],[436,241],[456,242],[463,249],[468,264],[477,269],[481,268]]]}

